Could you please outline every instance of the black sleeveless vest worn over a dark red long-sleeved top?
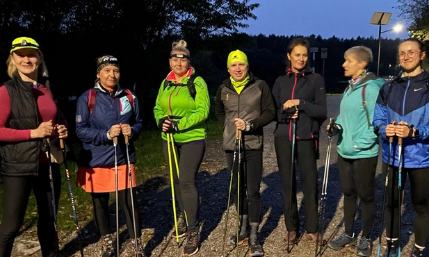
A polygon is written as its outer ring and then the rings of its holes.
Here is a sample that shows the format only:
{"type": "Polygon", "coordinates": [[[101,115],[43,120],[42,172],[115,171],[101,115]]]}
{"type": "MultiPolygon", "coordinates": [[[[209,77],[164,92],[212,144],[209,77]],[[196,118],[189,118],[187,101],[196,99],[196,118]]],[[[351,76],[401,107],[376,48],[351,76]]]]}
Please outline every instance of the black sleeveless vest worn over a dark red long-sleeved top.
{"type": "MultiPolygon", "coordinates": [[[[33,83],[14,76],[4,86],[8,90],[11,109],[6,127],[38,128],[38,106],[33,96],[33,83]]],[[[41,138],[24,142],[0,142],[0,173],[6,176],[37,176],[41,144],[41,138]]]]}

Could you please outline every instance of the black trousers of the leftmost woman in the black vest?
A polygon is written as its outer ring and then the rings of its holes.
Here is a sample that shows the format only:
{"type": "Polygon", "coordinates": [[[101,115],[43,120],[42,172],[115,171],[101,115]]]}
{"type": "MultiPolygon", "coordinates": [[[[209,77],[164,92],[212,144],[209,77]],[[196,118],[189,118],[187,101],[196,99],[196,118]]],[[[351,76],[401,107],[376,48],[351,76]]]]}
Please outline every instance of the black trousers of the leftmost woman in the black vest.
{"type": "MultiPolygon", "coordinates": [[[[61,191],[60,168],[52,164],[55,205],[61,191]]],[[[39,176],[3,176],[3,219],[0,225],[0,257],[9,257],[13,242],[24,222],[31,190],[38,205],[38,238],[42,256],[59,256],[58,235],[54,227],[54,208],[49,180],[49,165],[40,163],[39,176]]]]}

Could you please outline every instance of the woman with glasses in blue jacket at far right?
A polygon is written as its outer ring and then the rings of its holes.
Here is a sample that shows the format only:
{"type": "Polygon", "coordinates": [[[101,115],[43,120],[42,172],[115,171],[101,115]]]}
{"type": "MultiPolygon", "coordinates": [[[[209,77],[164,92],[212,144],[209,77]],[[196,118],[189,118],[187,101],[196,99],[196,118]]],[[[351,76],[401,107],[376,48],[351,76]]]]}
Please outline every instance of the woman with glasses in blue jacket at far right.
{"type": "Polygon", "coordinates": [[[403,71],[382,86],[374,110],[373,126],[382,142],[382,170],[386,172],[387,165],[390,168],[385,224],[389,256],[394,257],[400,246],[398,138],[403,138],[401,188],[408,174],[415,211],[412,256],[423,256],[429,238],[429,73],[421,68],[425,56],[419,40],[410,38],[399,44],[398,58],[403,71]],[[394,137],[394,142],[387,164],[390,137],[394,137]]]}

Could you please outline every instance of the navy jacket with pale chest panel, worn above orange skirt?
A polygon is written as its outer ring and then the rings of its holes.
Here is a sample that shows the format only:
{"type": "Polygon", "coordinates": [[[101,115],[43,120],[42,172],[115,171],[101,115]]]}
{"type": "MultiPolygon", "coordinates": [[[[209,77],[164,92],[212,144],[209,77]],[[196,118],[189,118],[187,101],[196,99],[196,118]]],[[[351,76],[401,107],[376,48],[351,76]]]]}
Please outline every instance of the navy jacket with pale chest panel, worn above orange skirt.
{"type": "MultiPolygon", "coordinates": [[[[83,143],[79,154],[79,165],[84,167],[114,167],[115,147],[108,140],[107,131],[115,124],[129,124],[132,136],[129,138],[130,163],[136,163],[133,141],[143,128],[139,116],[138,100],[133,94],[131,104],[127,92],[117,85],[117,91],[109,94],[99,83],[92,90],[97,91],[94,108],[90,113],[88,98],[90,90],[83,92],[77,100],[76,135],[83,143]]],[[[118,165],[127,163],[127,148],[122,133],[118,137],[118,165]]]]}

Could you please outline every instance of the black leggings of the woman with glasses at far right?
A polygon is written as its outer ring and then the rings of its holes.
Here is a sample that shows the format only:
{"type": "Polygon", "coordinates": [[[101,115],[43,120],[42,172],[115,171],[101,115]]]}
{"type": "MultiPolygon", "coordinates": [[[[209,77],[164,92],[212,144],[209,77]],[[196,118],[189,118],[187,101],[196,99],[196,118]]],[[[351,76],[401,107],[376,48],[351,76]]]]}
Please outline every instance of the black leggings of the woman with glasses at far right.
{"type": "MultiPolygon", "coordinates": [[[[384,178],[386,176],[386,167],[387,164],[383,163],[384,178]]],[[[407,174],[410,178],[411,201],[415,212],[415,243],[424,247],[429,238],[429,168],[403,168],[401,188],[404,188],[405,181],[407,180],[407,174]]],[[[390,166],[386,196],[386,235],[388,238],[398,238],[398,167],[390,166]],[[391,197],[392,194],[394,196],[393,199],[391,197]],[[393,220],[391,219],[392,212],[394,214],[393,220]]]]}

